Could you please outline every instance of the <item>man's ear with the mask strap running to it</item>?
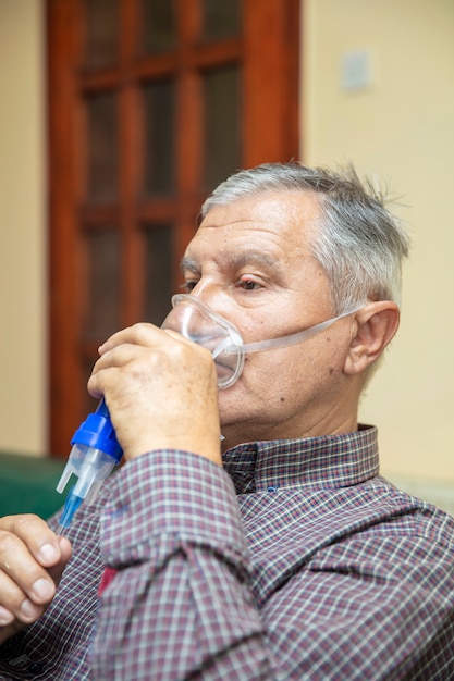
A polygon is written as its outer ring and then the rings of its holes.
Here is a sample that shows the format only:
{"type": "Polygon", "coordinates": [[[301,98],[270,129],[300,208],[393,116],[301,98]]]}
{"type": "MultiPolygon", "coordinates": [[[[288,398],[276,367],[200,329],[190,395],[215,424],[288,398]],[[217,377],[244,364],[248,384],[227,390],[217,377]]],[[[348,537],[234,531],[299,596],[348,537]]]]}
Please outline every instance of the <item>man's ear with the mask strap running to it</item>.
{"type": "Polygon", "coordinates": [[[401,314],[398,306],[391,300],[370,302],[356,312],[356,331],[345,358],[344,372],[355,374],[365,371],[380,357],[394,337],[401,314]]]}

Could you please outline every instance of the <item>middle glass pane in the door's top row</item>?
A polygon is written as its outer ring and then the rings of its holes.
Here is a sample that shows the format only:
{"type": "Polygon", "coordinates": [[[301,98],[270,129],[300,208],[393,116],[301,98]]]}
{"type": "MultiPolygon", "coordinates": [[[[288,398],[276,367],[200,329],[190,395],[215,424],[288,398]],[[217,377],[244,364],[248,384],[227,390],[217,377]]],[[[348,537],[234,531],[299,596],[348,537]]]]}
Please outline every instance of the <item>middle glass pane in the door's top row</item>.
{"type": "Polygon", "coordinates": [[[142,45],[145,54],[167,52],[175,47],[174,12],[172,0],[142,0],[142,45]]]}

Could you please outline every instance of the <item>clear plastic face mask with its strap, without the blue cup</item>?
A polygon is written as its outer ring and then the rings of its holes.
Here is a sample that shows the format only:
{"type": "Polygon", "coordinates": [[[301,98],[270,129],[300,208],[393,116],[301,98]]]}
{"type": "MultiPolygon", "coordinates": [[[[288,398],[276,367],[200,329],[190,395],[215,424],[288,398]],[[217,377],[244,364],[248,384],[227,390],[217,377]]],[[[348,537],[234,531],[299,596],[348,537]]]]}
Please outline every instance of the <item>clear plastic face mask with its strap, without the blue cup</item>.
{"type": "Polygon", "coordinates": [[[244,343],[236,326],[214,312],[206,302],[188,294],[177,294],[172,297],[173,309],[167,315],[162,329],[177,331],[185,338],[207,348],[214,359],[218,387],[223,389],[240,379],[246,352],[259,352],[307,340],[365,305],[366,301],[358,302],[339,317],[287,336],[244,343]]]}

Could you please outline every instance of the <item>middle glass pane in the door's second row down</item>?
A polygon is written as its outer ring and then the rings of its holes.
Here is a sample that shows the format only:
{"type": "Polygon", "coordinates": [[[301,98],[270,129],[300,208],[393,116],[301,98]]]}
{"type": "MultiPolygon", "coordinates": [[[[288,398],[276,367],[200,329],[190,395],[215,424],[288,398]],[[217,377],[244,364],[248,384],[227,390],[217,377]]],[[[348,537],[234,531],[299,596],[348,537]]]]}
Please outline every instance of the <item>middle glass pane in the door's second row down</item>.
{"type": "Polygon", "coordinates": [[[144,87],[146,196],[174,189],[174,91],[172,81],[144,87]]]}

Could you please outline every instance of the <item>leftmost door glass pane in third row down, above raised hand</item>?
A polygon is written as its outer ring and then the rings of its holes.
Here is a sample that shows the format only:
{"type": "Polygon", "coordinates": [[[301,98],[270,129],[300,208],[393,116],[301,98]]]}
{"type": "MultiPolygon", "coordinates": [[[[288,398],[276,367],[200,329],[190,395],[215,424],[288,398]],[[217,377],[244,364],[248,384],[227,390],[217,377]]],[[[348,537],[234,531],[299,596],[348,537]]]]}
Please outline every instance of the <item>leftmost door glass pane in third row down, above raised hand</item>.
{"type": "Polygon", "coordinates": [[[120,329],[120,239],[116,231],[85,237],[87,292],[84,340],[106,340],[120,329]]]}

